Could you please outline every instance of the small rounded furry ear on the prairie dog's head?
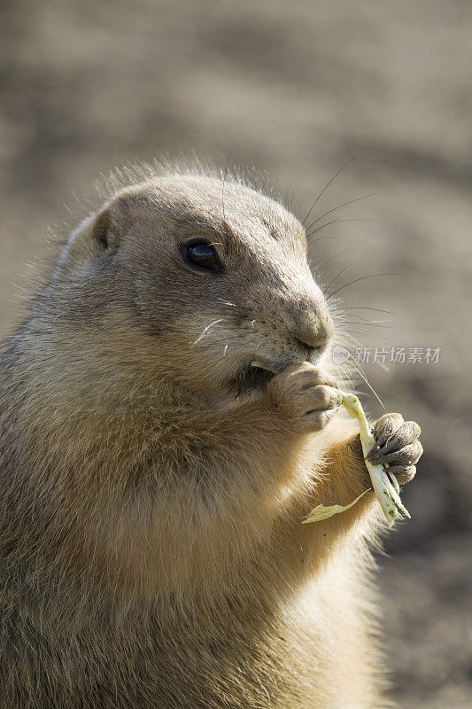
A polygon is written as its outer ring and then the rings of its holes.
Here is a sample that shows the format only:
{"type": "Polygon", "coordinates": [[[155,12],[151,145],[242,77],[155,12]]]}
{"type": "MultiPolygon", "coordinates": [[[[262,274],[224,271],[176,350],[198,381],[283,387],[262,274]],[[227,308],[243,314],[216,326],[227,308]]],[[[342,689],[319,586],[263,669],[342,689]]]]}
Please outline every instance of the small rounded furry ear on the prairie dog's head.
{"type": "Polygon", "coordinates": [[[55,275],[80,272],[105,251],[117,248],[126,227],[125,212],[117,199],[82,222],[62,250],[55,275]]]}

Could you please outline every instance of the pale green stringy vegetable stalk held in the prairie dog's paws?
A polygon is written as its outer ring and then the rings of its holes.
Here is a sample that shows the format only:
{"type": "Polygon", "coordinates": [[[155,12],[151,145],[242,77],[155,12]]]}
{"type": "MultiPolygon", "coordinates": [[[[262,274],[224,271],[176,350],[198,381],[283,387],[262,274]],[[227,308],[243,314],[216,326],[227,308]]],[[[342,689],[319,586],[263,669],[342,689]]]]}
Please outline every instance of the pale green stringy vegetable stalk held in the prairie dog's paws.
{"type": "MultiPolygon", "coordinates": [[[[352,418],[357,418],[359,422],[360,443],[364,456],[367,456],[370,450],[375,446],[375,438],[372,435],[368,425],[364,410],[362,409],[360,401],[355,394],[345,392],[342,392],[342,394],[344,409],[346,409],[352,418]]],[[[368,460],[366,461],[366,465],[370,479],[372,480],[372,487],[374,487],[375,495],[381,504],[383,514],[387,519],[388,525],[391,526],[397,518],[403,518],[403,515],[401,514],[402,512],[409,518],[410,515],[408,510],[406,510],[406,507],[400,500],[398,482],[395,476],[389,475],[389,472],[384,470],[382,465],[373,465],[369,463],[368,460]]],[[[362,495],[364,494],[365,493],[362,493],[362,495]]],[[[330,505],[328,507],[319,504],[303,520],[303,523],[308,524],[310,522],[319,522],[321,519],[327,519],[332,515],[338,514],[339,512],[344,512],[344,510],[348,510],[352,507],[352,505],[357,503],[362,495],[356,497],[352,503],[345,505],[345,507],[339,504],[330,505]]]]}

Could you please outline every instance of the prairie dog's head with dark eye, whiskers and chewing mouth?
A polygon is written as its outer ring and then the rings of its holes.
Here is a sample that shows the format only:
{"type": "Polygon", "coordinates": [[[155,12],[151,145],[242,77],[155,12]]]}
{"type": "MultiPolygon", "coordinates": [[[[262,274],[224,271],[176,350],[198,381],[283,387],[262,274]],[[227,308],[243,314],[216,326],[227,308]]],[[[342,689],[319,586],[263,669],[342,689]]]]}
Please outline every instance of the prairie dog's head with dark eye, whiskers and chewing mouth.
{"type": "Polygon", "coordinates": [[[320,362],[334,333],[301,223],[230,179],[163,175],[118,192],[74,232],[50,287],[77,343],[93,332],[116,367],[197,394],[258,391],[268,370],[320,362]]]}

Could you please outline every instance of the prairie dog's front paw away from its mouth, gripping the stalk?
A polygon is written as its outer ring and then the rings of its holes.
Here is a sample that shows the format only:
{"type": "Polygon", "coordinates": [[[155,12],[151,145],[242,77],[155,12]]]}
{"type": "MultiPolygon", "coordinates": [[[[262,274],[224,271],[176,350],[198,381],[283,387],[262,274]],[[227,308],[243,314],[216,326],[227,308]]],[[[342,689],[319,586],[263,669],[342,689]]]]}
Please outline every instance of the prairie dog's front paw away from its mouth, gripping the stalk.
{"type": "Polygon", "coordinates": [[[415,464],[422,455],[422,444],[418,440],[422,430],[414,421],[404,421],[401,414],[385,414],[374,426],[376,445],[366,460],[375,465],[388,466],[404,485],[414,478],[415,464]]]}

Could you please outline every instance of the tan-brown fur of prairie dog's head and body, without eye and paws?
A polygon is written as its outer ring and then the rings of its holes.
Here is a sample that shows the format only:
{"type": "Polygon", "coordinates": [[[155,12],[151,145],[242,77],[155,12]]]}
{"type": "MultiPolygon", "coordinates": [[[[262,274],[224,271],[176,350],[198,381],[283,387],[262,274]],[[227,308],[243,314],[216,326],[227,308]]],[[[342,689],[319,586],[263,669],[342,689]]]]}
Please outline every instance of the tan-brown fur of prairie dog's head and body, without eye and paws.
{"type": "Polygon", "coordinates": [[[1,355],[1,707],[384,705],[377,504],[301,524],[367,487],[356,426],[236,393],[330,322],[302,226],[236,178],[149,176],[74,232],[1,355]],[[224,275],[183,264],[200,236],[224,275]]]}

